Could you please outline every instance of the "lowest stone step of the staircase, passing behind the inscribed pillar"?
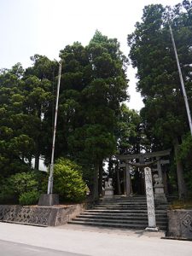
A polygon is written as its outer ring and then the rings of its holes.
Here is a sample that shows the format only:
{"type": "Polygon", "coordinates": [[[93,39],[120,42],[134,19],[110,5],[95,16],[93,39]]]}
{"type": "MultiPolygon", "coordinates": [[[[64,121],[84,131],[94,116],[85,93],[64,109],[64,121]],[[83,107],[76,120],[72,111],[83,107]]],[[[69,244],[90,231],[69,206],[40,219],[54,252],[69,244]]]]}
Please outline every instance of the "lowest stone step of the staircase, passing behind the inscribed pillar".
{"type": "MultiPolygon", "coordinates": [[[[101,227],[109,227],[109,228],[119,228],[119,229],[136,229],[136,230],[144,230],[148,225],[145,224],[119,224],[119,223],[101,223],[101,222],[88,222],[88,221],[75,221],[71,220],[68,224],[83,224],[83,225],[93,225],[93,226],[101,226],[101,227]]],[[[159,226],[160,230],[166,230],[166,226],[159,226]]]]}

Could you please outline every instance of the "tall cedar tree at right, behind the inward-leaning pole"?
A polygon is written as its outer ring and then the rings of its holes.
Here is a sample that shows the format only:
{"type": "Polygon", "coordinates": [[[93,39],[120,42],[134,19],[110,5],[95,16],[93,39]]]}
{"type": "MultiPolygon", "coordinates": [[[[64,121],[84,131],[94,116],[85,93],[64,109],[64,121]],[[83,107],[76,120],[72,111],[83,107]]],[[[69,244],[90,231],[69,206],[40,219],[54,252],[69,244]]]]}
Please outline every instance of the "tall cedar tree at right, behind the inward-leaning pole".
{"type": "Polygon", "coordinates": [[[161,141],[161,148],[173,146],[178,193],[182,198],[186,195],[186,188],[183,162],[177,152],[189,125],[166,20],[167,12],[172,13],[172,29],[191,105],[192,2],[183,1],[171,11],[160,4],[146,6],[142,22],[137,22],[135,32],[128,36],[128,45],[131,47],[132,65],[137,67],[137,90],[145,104],[141,111],[143,123],[151,135],[161,141]]]}

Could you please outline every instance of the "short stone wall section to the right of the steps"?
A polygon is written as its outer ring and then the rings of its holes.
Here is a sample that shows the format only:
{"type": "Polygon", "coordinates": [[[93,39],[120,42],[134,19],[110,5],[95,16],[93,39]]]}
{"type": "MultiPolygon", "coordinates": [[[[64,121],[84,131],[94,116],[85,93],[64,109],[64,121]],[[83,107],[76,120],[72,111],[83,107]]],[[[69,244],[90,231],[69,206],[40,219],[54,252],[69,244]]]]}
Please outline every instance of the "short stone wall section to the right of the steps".
{"type": "Polygon", "coordinates": [[[167,236],[192,239],[192,209],[168,210],[167,236]]]}

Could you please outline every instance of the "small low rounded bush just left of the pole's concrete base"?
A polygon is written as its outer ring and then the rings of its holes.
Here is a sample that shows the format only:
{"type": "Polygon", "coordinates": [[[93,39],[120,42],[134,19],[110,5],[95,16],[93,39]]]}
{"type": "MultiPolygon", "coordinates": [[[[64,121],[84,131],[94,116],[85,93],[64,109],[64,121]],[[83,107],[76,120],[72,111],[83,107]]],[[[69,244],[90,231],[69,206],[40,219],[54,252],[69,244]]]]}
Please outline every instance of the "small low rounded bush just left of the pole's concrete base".
{"type": "Polygon", "coordinates": [[[28,191],[20,195],[19,203],[22,206],[35,205],[38,203],[40,193],[36,190],[28,191]]]}

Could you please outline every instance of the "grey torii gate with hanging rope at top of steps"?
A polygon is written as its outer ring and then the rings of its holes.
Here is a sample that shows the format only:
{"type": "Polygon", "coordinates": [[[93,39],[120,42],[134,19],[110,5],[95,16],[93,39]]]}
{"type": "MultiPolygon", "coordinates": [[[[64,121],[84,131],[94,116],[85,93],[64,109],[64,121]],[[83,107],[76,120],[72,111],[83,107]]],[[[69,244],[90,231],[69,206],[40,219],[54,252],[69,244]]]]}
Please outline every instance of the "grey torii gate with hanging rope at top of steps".
{"type": "MultiPolygon", "coordinates": [[[[171,149],[167,149],[164,151],[157,151],[152,153],[144,153],[144,154],[116,154],[116,158],[118,160],[124,161],[124,164],[120,164],[119,167],[125,167],[125,188],[126,195],[131,195],[131,177],[130,177],[130,166],[137,167],[148,167],[157,163],[157,171],[158,176],[162,179],[162,169],[161,165],[168,164],[169,160],[161,160],[160,157],[169,155],[171,153],[171,149]],[[154,161],[145,162],[146,158],[155,158],[154,161]],[[131,160],[138,159],[138,163],[132,163],[131,160]]],[[[119,171],[118,171],[119,172],[119,171]]]]}

